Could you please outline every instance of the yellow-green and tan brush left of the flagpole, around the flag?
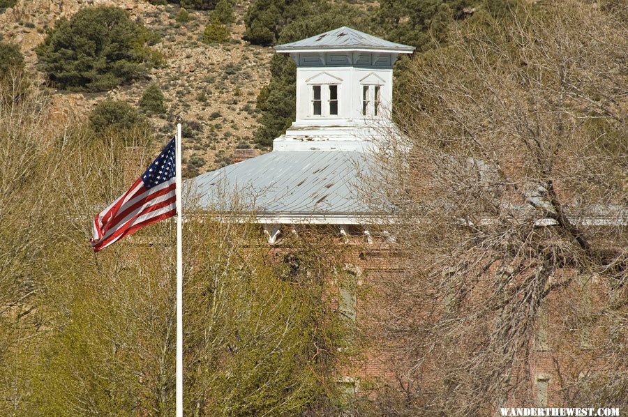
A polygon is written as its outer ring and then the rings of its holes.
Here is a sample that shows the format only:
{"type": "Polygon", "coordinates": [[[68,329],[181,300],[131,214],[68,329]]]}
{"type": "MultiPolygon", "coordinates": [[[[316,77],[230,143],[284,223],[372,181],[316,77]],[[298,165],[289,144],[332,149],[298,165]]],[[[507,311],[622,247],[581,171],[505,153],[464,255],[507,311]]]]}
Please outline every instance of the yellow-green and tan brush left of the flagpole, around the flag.
{"type": "MultiPolygon", "coordinates": [[[[0,82],[0,102],[15,83],[0,82]]],[[[94,141],[58,119],[48,91],[0,104],[0,415],[172,415],[172,228],[138,232],[163,239],[153,249],[87,245],[96,207],[130,185],[122,167],[148,158],[126,132],[94,141]]]]}

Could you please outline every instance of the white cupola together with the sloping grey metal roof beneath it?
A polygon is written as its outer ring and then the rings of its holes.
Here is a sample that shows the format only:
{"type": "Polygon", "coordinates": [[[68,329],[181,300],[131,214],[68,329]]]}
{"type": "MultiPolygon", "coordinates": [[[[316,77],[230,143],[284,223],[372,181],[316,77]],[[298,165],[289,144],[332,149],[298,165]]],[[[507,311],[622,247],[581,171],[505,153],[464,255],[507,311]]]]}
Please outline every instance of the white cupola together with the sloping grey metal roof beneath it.
{"type": "Polygon", "coordinates": [[[363,176],[378,169],[372,141],[384,139],[380,128],[395,129],[393,64],[414,48],[341,27],[276,49],[297,63],[296,120],[274,140],[273,151],[190,180],[197,204],[211,211],[233,192],[238,204],[225,210],[241,215],[243,206],[251,207],[269,243],[283,224],[343,231],[376,222],[388,208],[371,207],[358,190],[363,176]]]}

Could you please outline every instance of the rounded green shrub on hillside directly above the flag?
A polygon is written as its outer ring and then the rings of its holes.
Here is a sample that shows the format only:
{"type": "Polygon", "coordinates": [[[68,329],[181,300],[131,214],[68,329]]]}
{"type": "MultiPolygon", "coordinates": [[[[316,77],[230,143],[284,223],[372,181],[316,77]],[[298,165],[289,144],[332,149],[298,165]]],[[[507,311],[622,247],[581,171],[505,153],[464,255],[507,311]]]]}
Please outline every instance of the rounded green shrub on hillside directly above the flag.
{"type": "Polygon", "coordinates": [[[89,127],[96,134],[107,130],[128,130],[144,123],[137,109],[123,101],[107,99],[98,103],[89,114],[89,127]]]}

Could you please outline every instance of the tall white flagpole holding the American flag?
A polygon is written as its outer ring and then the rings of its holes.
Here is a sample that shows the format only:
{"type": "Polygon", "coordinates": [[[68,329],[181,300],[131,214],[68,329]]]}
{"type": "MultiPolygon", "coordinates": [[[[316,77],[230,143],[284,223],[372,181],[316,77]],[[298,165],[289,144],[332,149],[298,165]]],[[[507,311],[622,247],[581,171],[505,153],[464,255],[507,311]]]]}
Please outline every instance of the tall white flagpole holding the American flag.
{"type": "Polygon", "coordinates": [[[177,174],[177,417],[183,417],[183,243],[181,240],[181,123],[177,123],[177,151],[175,169],[177,174]]]}

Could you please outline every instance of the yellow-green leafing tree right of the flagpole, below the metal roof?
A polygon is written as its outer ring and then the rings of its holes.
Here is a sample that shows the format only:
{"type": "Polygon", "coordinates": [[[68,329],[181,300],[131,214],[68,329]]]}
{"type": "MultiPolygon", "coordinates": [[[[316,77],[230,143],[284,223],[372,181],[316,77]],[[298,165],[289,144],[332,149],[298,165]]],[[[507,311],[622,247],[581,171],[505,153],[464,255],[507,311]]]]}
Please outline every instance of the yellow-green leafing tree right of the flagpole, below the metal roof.
{"type": "Polygon", "coordinates": [[[184,313],[187,413],[339,415],[334,370],[347,328],[327,296],[342,255],[321,254],[342,251],[299,231],[290,243],[298,250],[269,259],[253,225],[204,222],[184,233],[195,259],[184,313]]]}

